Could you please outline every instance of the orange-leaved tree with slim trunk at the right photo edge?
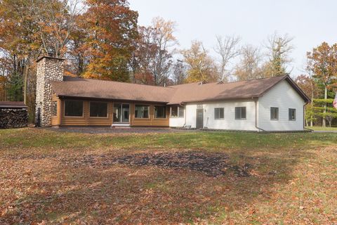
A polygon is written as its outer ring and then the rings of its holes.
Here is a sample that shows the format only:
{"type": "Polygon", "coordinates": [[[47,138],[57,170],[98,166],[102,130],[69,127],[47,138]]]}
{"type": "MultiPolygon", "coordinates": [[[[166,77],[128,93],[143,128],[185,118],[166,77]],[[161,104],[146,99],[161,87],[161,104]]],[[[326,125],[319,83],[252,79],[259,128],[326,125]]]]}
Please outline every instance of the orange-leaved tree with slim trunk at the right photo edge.
{"type": "MultiPolygon", "coordinates": [[[[328,90],[336,85],[337,81],[337,44],[329,46],[323,42],[312,52],[307,53],[308,59],[312,60],[312,71],[315,79],[324,86],[324,100],[328,98],[328,90]]],[[[327,105],[324,103],[324,112],[326,114],[327,105]]],[[[326,127],[326,119],[323,117],[322,126],[326,127]]]]}

